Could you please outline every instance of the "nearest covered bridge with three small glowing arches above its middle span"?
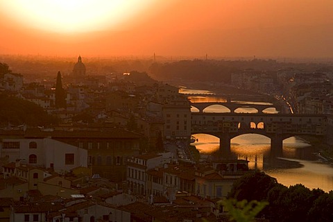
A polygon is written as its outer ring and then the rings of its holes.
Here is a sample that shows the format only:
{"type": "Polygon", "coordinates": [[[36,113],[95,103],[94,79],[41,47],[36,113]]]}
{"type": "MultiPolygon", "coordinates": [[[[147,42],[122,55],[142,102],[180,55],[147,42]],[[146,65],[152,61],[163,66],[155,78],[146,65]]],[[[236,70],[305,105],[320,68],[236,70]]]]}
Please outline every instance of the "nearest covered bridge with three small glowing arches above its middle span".
{"type": "Polygon", "coordinates": [[[271,139],[271,154],[282,157],[282,142],[296,135],[327,135],[327,117],[320,114],[191,113],[191,134],[220,139],[220,157],[230,157],[230,139],[255,133],[271,139]]]}

